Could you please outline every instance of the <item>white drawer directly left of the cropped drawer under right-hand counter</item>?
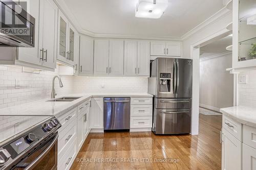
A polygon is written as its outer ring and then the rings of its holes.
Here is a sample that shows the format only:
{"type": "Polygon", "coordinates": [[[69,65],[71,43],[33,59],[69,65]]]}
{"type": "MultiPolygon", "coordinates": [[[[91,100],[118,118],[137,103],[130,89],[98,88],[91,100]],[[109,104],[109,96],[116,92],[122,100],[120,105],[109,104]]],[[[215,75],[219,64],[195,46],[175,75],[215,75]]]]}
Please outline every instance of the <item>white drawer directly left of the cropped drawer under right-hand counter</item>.
{"type": "Polygon", "coordinates": [[[222,127],[238,140],[242,141],[242,125],[240,123],[224,115],[222,118],[222,127]]]}

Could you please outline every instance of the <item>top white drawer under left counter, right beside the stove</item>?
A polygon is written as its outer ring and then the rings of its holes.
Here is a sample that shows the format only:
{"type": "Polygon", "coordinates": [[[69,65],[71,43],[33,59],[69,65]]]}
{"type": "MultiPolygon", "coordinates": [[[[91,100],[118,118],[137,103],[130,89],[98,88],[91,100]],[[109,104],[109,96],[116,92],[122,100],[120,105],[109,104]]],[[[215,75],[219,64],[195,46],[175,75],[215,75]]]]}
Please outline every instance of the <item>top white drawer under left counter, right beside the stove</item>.
{"type": "Polygon", "coordinates": [[[73,122],[74,119],[76,119],[76,109],[74,108],[70,110],[69,112],[61,115],[58,119],[61,124],[61,127],[59,128],[58,132],[60,133],[63,129],[65,129],[71,122],[73,122]]]}

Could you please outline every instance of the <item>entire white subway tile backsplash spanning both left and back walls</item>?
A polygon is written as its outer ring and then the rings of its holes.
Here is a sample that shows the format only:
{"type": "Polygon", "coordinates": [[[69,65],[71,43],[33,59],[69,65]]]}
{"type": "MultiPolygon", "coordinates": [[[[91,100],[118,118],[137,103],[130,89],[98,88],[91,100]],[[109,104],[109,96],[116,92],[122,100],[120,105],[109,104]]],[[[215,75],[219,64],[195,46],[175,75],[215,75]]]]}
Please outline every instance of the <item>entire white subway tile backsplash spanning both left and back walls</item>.
{"type": "MultiPolygon", "coordinates": [[[[50,98],[52,78],[58,69],[40,74],[22,72],[21,66],[0,65],[0,109],[50,98]],[[19,81],[18,88],[15,81],[19,81]]],[[[60,76],[63,88],[55,80],[58,95],[70,93],[147,93],[147,78],[60,76]]]]}

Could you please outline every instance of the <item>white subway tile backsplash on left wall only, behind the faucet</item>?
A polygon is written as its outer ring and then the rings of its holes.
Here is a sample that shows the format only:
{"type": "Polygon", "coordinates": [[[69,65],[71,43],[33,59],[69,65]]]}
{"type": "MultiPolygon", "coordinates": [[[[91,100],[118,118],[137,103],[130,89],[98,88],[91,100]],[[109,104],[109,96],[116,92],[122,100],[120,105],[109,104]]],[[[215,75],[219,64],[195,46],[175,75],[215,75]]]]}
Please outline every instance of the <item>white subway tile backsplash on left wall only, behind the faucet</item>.
{"type": "MultiPolygon", "coordinates": [[[[41,71],[39,75],[22,72],[21,66],[0,65],[0,109],[16,106],[35,100],[50,98],[52,78],[57,75],[52,71],[41,71]],[[15,79],[19,80],[20,88],[15,88],[15,79]]],[[[55,80],[57,94],[71,93],[73,77],[60,76],[63,88],[55,80]]]]}

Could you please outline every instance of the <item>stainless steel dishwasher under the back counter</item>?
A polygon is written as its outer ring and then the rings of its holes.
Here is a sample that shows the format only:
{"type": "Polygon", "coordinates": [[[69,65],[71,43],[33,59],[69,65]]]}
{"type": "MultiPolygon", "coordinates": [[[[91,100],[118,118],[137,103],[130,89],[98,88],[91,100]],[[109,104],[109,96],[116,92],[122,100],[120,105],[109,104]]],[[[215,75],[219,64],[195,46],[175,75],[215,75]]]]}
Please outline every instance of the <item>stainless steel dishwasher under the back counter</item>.
{"type": "Polygon", "coordinates": [[[130,98],[104,98],[104,130],[130,130],[130,98]]]}

